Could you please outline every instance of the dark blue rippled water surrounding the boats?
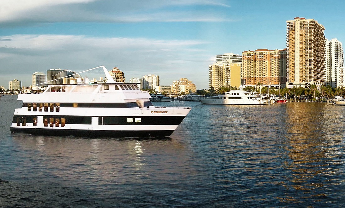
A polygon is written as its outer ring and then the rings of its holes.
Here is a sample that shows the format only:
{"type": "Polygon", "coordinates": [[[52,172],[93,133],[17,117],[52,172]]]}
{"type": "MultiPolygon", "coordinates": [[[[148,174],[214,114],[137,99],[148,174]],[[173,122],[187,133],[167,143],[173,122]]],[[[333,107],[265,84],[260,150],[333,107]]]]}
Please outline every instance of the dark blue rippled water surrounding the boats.
{"type": "Polygon", "coordinates": [[[192,110],[165,140],[11,135],[0,207],[345,207],[345,107],[154,102],[192,110]]]}

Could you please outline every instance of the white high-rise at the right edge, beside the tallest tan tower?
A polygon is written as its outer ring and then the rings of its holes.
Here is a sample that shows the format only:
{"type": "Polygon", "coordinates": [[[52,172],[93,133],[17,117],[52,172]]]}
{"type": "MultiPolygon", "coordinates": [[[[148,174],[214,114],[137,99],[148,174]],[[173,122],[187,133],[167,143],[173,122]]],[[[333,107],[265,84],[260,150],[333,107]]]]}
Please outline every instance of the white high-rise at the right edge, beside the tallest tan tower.
{"type": "Polygon", "coordinates": [[[343,44],[336,38],[326,39],[326,84],[332,87],[344,86],[343,72],[344,50],[343,44]]]}

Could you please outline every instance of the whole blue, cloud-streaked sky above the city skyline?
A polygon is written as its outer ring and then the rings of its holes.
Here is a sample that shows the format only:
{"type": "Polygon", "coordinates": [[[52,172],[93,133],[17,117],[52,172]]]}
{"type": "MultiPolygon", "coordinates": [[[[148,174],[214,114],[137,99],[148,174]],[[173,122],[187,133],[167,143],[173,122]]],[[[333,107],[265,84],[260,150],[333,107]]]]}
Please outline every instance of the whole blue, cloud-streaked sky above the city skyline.
{"type": "MultiPolygon", "coordinates": [[[[118,67],[126,81],[158,75],[208,89],[216,55],[286,48],[286,21],[314,19],[345,43],[345,1],[1,0],[0,86],[34,72],[118,67]]],[[[88,78],[105,77],[101,70],[88,78]]]]}

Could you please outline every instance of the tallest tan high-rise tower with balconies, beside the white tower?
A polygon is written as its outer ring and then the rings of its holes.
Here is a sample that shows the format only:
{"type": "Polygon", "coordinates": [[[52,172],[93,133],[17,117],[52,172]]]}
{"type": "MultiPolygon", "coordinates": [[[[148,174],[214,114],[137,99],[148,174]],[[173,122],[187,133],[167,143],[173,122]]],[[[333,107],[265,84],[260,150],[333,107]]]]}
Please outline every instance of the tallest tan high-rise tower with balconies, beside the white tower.
{"type": "Polygon", "coordinates": [[[310,87],[325,85],[326,38],[324,26],[314,19],[288,20],[286,85],[310,87]]]}

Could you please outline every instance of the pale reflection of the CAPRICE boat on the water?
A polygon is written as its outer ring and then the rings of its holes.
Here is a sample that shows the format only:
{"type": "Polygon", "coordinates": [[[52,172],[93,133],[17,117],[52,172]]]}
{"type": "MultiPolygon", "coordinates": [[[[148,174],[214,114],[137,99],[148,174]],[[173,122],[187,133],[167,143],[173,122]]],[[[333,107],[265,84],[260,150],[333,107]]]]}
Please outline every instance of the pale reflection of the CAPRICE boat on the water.
{"type": "Polygon", "coordinates": [[[155,160],[154,155],[162,152],[177,157],[183,155],[180,152],[183,146],[178,141],[166,137],[140,141],[128,138],[76,139],[13,134],[12,138],[20,146],[21,151],[31,152],[32,168],[40,168],[43,175],[58,176],[66,181],[80,181],[80,186],[91,186],[94,183],[98,186],[109,183],[121,184],[128,180],[144,183],[142,178],[138,177],[155,174],[152,168],[169,169],[169,163],[183,163],[183,160],[169,156],[161,156],[162,160],[155,160]],[[88,182],[85,182],[85,178],[88,182]]]}

